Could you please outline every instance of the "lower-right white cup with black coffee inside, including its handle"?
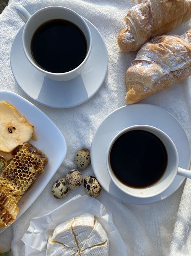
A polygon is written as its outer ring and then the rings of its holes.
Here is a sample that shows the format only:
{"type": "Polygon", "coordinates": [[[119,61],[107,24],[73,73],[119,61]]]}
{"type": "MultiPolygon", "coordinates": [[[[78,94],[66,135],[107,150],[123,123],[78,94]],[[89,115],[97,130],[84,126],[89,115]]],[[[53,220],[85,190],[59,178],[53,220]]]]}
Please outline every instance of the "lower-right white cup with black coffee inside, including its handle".
{"type": "Polygon", "coordinates": [[[128,195],[147,198],[167,189],[176,175],[191,178],[178,167],[178,152],[160,129],[135,125],[119,132],[110,142],[107,170],[115,185],[128,195]]]}

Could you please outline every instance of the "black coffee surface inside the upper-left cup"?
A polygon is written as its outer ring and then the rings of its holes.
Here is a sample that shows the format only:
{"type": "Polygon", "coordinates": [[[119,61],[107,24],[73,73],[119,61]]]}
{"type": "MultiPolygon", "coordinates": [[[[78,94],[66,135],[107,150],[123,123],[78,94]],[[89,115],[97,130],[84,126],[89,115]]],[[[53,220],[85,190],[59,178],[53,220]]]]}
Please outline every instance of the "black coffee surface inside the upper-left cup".
{"type": "Polygon", "coordinates": [[[71,71],[83,62],[87,41],[81,29],[68,20],[43,23],[32,36],[31,53],[36,64],[52,73],[71,71]]]}

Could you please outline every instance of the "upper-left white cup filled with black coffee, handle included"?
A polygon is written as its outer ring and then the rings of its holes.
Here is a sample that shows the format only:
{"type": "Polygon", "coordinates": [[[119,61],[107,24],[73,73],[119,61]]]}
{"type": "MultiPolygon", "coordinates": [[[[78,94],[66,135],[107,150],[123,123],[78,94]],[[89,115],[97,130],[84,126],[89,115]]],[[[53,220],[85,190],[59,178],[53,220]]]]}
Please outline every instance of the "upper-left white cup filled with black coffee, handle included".
{"type": "Polygon", "coordinates": [[[26,22],[22,41],[30,63],[55,81],[68,81],[78,76],[92,46],[86,21],[62,6],[45,7],[32,15],[22,5],[15,8],[26,22]]]}

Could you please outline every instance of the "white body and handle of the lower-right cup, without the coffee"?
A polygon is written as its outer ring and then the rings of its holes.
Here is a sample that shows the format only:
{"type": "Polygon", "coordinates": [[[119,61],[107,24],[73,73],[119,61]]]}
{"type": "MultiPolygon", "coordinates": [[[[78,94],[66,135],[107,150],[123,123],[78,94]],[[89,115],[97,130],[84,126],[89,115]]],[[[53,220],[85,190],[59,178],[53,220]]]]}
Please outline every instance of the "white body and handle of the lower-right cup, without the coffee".
{"type": "MultiPolygon", "coordinates": [[[[128,147],[128,144],[126,146],[128,147]]],[[[115,185],[121,191],[125,192],[128,195],[131,195],[133,197],[138,197],[138,198],[148,198],[148,197],[154,197],[156,195],[159,195],[172,184],[176,175],[181,175],[184,177],[191,178],[191,171],[178,167],[178,161],[179,161],[178,152],[172,139],[170,139],[170,137],[167,134],[165,134],[165,132],[163,132],[162,130],[157,129],[156,127],[147,126],[147,125],[135,125],[135,126],[130,126],[124,130],[121,130],[110,142],[107,150],[107,155],[106,155],[107,170],[113,183],[115,183],[115,185]],[[165,168],[165,172],[162,175],[162,177],[160,177],[159,180],[157,180],[153,185],[150,185],[149,187],[135,188],[122,183],[113,173],[113,170],[111,167],[110,153],[111,153],[113,144],[117,141],[117,139],[122,134],[125,134],[126,132],[129,132],[131,130],[143,130],[146,132],[151,132],[162,141],[167,151],[168,160],[167,160],[167,166],[165,168]]],[[[128,168],[128,155],[126,156],[126,165],[128,168]]]]}

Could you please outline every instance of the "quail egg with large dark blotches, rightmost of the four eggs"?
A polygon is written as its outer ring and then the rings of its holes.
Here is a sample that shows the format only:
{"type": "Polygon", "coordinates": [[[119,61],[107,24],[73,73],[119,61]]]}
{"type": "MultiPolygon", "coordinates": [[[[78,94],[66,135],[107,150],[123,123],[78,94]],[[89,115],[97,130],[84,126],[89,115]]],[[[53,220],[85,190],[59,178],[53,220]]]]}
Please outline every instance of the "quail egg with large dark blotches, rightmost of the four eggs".
{"type": "Polygon", "coordinates": [[[98,197],[101,193],[102,187],[94,176],[87,175],[84,178],[84,188],[90,197],[98,197]]]}

